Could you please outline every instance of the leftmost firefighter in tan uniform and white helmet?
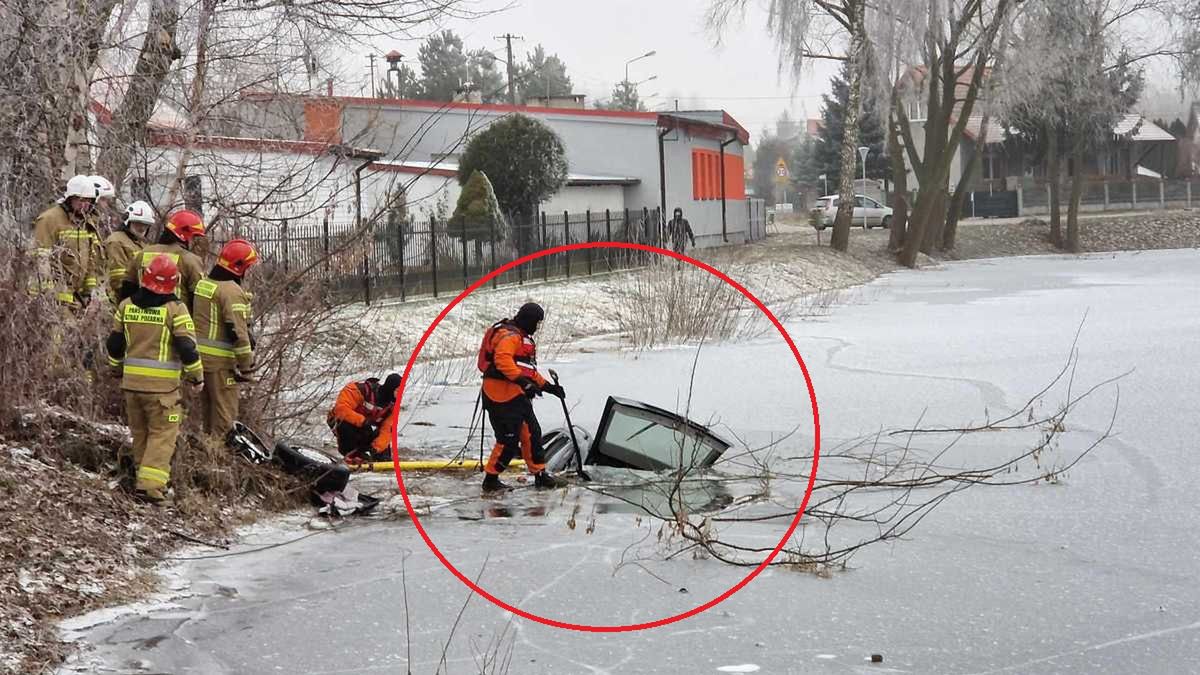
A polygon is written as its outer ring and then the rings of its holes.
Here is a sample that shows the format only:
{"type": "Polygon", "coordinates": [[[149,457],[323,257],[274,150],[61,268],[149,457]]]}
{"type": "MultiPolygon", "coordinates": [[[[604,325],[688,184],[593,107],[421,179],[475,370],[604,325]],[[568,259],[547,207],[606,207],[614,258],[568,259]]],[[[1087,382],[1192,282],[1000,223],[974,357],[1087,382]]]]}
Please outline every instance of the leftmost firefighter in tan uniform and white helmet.
{"type": "Polygon", "coordinates": [[[71,309],[86,305],[96,288],[100,235],[89,214],[98,191],[89,175],[76,175],[56,204],[34,221],[37,283],[32,292],[53,291],[71,309]]]}

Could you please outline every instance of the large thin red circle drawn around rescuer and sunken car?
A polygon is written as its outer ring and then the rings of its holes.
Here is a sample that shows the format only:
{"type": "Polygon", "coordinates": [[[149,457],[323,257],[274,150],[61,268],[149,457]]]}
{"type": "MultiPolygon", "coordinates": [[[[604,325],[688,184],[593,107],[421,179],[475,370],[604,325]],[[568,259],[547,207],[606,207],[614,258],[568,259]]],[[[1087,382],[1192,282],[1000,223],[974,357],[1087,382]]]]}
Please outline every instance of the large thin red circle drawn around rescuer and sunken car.
{"type": "MultiPolygon", "coordinates": [[[[646,622],[642,622],[642,623],[629,623],[629,625],[617,625],[617,626],[588,626],[588,625],[583,625],[583,623],[570,623],[570,622],[566,622],[566,621],[558,621],[556,619],[547,619],[545,616],[539,616],[536,614],[533,614],[533,613],[529,613],[529,611],[526,611],[523,609],[520,609],[520,608],[516,608],[516,607],[512,607],[512,605],[508,604],[506,602],[504,602],[504,601],[502,601],[502,599],[492,596],[491,593],[488,593],[484,589],[479,587],[467,575],[464,575],[462,572],[458,572],[458,569],[449,560],[446,560],[446,557],[442,554],[442,551],[438,550],[437,545],[433,544],[433,539],[431,539],[428,532],[425,531],[425,527],[421,525],[420,519],[416,518],[416,512],[413,509],[413,504],[412,504],[412,502],[408,498],[408,490],[404,489],[404,477],[402,476],[402,472],[400,470],[400,464],[398,464],[398,459],[400,458],[398,458],[397,446],[394,442],[392,443],[392,459],[397,461],[397,464],[395,466],[395,470],[396,470],[396,484],[400,485],[400,494],[401,494],[401,496],[404,500],[404,508],[408,510],[408,515],[413,519],[413,525],[416,526],[416,531],[421,533],[421,538],[425,539],[425,544],[427,546],[430,546],[430,550],[433,551],[433,555],[437,556],[437,558],[439,561],[442,561],[442,565],[444,565],[445,568],[449,569],[451,574],[454,574],[455,577],[457,577],[460,581],[462,581],[463,584],[466,584],[472,591],[479,593],[484,598],[487,598],[487,601],[491,602],[492,604],[494,604],[496,607],[499,607],[500,609],[504,609],[506,611],[511,611],[512,614],[515,614],[517,616],[522,616],[522,617],[528,619],[530,621],[536,621],[538,623],[542,623],[545,626],[553,626],[556,628],[565,628],[568,631],[581,631],[581,632],[588,632],[588,633],[625,633],[625,632],[644,631],[647,628],[658,628],[660,626],[666,626],[668,623],[674,623],[677,621],[683,621],[684,619],[688,619],[690,616],[695,616],[695,615],[697,615],[697,614],[700,614],[702,611],[706,611],[708,609],[712,609],[712,608],[716,607],[718,604],[720,604],[720,603],[725,602],[726,599],[728,599],[730,597],[732,597],[733,593],[736,593],[736,592],[740,591],[743,587],[745,587],[745,585],[749,584],[750,581],[752,581],[754,578],[757,577],[760,573],[762,573],[762,571],[766,569],[767,566],[770,565],[770,562],[773,560],[775,560],[775,556],[778,556],[779,552],[784,549],[784,544],[787,543],[787,539],[790,539],[792,537],[792,533],[796,532],[796,527],[800,524],[800,516],[804,514],[804,509],[809,504],[809,498],[812,496],[812,485],[814,485],[814,482],[816,480],[816,477],[817,477],[817,462],[820,460],[820,454],[821,454],[821,422],[820,422],[820,417],[818,417],[818,413],[817,413],[817,395],[816,395],[816,392],[812,389],[812,378],[809,377],[809,369],[804,365],[804,359],[800,358],[800,352],[799,352],[799,350],[796,348],[796,344],[792,342],[792,336],[787,334],[787,330],[784,329],[784,324],[781,324],[779,322],[779,319],[775,318],[775,315],[773,315],[770,312],[770,310],[767,309],[767,306],[763,305],[761,300],[758,300],[758,298],[755,298],[754,294],[750,293],[750,291],[748,291],[745,287],[743,287],[737,281],[733,281],[732,279],[730,279],[728,276],[726,276],[725,274],[722,274],[720,270],[713,268],[712,265],[708,265],[708,264],[706,264],[706,263],[703,263],[701,261],[697,261],[695,258],[690,258],[690,257],[684,256],[682,253],[676,253],[674,251],[668,251],[666,249],[659,249],[656,246],[646,246],[646,245],[642,245],[642,244],[628,244],[628,243],[622,243],[622,241],[590,241],[590,243],[586,243],[586,244],[568,244],[565,246],[554,246],[552,249],[545,249],[545,250],[538,251],[535,253],[529,253],[528,256],[524,256],[522,258],[515,259],[515,261],[512,261],[512,262],[510,262],[508,264],[504,264],[504,265],[502,265],[502,267],[492,270],[486,276],[484,276],[480,280],[478,280],[474,283],[472,283],[470,287],[468,287],[466,291],[463,291],[462,293],[460,293],[457,298],[455,298],[454,300],[451,300],[450,304],[446,305],[445,309],[443,309],[440,313],[438,313],[437,318],[433,319],[433,323],[431,323],[430,327],[425,329],[425,334],[421,335],[421,340],[416,344],[416,348],[413,350],[412,356],[408,357],[408,364],[404,366],[404,375],[403,375],[403,380],[401,380],[400,392],[396,393],[396,405],[400,405],[400,402],[404,398],[404,388],[408,386],[408,376],[413,371],[413,364],[416,363],[416,357],[421,353],[421,348],[425,347],[425,342],[430,339],[430,335],[433,334],[433,330],[438,327],[438,324],[442,323],[442,319],[445,318],[445,316],[448,313],[450,313],[450,310],[452,310],[455,307],[455,305],[457,305],[458,303],[461,303],[463,300],[463,298],[466,298],[467,295],[469,295],[475,289],[478,289],[480,286],[487,283],[492,279],[494,279],[494,277],[504,274],[505,271],[509,271],[510,269],[514,269],[514,268],[516,268],[518,265],[522,265],[522,264],[524,264],[527,262],[535,261],[538,258],[541,258],[541,257],[545,257],[545,256],[551,256],[551,255],[554,255],[554,253],[565,253],[565,252],[569,252],[569,251],[582,251],[582,250],[586,250],[586,249],[628,249],[628,250],[634,250],[634,251],[644,251],[644,252],[649,252],[649,253],[658,253],[660,256],[667,256],[670,258],[676,258],[678,261],[684,261],[684,262],[686,262],[689,264],[698,267],[700,269],[703,269],[704,271],[707,271],[707,273],[712,274],[713,276],[716,276],[721,281],[728,283],[730,286],[732,286],[733,288],[736,288],[739,293],[742,293],[743,295],[745,295],[751,303],[754,303],[755,306],[758,307],[758,310],[762,311],[762,313],[764,313],[767,316],[767,318],[770,319],[772,324],[775,325],[775,329],[779,330],[779,334],[784,336],[784,341],[787,342],[788,348],[792,350],[792,356],[796,357],[796,363],[799,364],[800,372],[804,374],[804,383],[809,388],[809,400],[812,404],[812,426],[814,426],[814,430],[815,430],[814,431],[814,441],[812,441],[812,468],[809,472],[809,484],[808,484],[808,488],[805,488],[805,490],[804,490],[804,500],[800,501],[799,508],[796,509],[796,518],[792,519],[791,525],[788,525],[788,527],[787,527],[787,532],[785,532],[784,536],[779,539],[779,543],[775,544],[774,550],[770,551],[770,554],[766,557],[766,560],[763,560],[761,563],[758,563],[757,567],[755,567],[749,574],[746,574],[745,579],[743,579],[743,580],[738,581],[737,584],[734,584],[730,590],[725,591],[720,596],[718,596],[718,597],[715,597],[715,598],[706,602],[704,604],[702,604],[700,607],[696,607],[694,609],[690,609],[690,610],[680,613],[680,614],[676,614],[674,616],[667,616],[665,619],[659,619],[656,621],[646,621],[646,622]]],[[[400,425],[400,416],[397,414],[395,417],[396,417],[396,419],[392,423],[392,429],[391,429],[392,438],[396,438],[396,434],[397,434],[398,425],[400,425]]]]}

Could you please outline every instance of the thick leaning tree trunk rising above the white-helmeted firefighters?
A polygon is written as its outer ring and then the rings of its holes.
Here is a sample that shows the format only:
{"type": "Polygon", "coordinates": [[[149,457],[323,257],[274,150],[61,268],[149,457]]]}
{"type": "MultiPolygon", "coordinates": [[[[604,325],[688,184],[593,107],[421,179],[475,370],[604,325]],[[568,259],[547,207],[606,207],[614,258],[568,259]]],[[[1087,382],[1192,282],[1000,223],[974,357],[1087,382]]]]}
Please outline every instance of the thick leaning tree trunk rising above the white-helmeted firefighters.
{"type": "Polygon", "coordinates": [[[154,0],[130,88],[113,113],[108,131],[101,137],[97,173],[108,178],[118,190],[125,181],[134,148],[145,143],[146,123],[154,114],[170,65],[181,56],[175,44],[178,23],[179,0],[154,0]]]}

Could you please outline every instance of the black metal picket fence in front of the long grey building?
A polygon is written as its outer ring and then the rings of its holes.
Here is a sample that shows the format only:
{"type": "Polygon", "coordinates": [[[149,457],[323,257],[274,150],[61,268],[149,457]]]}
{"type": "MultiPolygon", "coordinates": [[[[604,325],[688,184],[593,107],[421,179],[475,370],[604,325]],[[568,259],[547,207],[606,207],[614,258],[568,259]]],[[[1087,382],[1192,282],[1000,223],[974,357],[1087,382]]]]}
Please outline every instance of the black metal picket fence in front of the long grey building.
{"type": "MultiPolygon", "coordinates": [[[[524,255],[586,241],[661,246],[659,209],[540,213],[536,222],[479,228],[445,220],[389,217],[359,228],[353,221],[283,221],[234,227],[250,238],[268,274],[302,273],[338,300],[456,294],[488,271],[524,255]]],[[[217,239],[223,239],[220,234],[217,239]]],[[[542,256],[517,265],[492,287],[588,276],[644,265],[652,253],[588,249],[542,256]]]]}

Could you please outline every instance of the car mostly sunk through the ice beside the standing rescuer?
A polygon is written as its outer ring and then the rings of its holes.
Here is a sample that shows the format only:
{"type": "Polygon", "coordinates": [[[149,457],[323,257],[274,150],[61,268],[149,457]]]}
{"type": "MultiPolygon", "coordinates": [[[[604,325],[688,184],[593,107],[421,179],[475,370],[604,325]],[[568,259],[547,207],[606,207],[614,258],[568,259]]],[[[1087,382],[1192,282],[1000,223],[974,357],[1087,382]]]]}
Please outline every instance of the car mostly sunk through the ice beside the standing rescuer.
{"type": "Polygon", "coordinates": [[[712,429],[642,401],[608,396],[595,436],[575,426],[578,453],[566,428],[542,435],[546,467],[554,473],[578,466],[640,471],[708,468],[732,443],[712,429]]]}

